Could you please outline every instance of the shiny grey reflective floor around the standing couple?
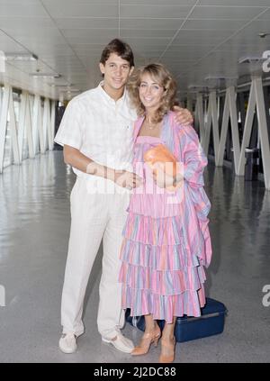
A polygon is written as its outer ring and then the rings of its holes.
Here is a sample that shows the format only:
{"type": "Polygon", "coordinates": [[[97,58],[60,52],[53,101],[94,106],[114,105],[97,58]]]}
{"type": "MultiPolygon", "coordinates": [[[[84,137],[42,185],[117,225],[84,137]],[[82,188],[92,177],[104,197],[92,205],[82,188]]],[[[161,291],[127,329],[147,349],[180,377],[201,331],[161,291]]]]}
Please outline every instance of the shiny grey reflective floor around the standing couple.
{"type": "MultiPolygon", "coordinates": [[[[58,349],[74,179],[61,151],[0,175],[0,362],[156,363],[159,345],[131,358],[100,340],[101,250],[87,288],[85,334],[76,354],[58,349]]],[[[270,192],[260,181],[245,182],[211,163],[205,183],[214,251],[207,295],[226,304],[229,314],[221,335],[177,344],[176,362],[269,362],[270,306],[262,304],[262,290],[270,285],[270,192]]],[[[140,331],[130,325],[123,331],[139,341],[140,331]]]]}

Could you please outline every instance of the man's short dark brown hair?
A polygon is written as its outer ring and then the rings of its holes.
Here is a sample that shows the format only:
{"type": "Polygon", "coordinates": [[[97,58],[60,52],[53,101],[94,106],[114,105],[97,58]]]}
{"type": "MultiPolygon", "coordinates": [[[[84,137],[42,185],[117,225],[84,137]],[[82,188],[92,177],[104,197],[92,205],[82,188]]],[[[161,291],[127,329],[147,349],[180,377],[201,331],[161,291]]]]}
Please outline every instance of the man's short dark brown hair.
{"type": "Polygon", "coordinates": [[[112,53],[117,54],[121,59],[125,59],[130,63],[130,68],[134,66],[134,56],[130,45],[119,39],[114,39],[108,43],[103,49],[100,62],[105,65],[112,53]]]}

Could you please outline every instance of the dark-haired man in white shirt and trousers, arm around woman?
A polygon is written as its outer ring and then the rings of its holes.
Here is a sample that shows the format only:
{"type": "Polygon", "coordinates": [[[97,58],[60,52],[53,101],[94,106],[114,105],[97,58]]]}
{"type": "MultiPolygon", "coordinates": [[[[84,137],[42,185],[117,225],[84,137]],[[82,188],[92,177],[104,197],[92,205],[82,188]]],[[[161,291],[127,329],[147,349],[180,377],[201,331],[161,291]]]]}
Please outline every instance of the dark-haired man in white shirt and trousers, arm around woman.
{"type": "MultiPolygon", "coordinates": [[[[59,348],[76,351],[82,322],[85,289],[103,240],[103,271],[97,325],[102,340],[130,353],[133,344],[121,334],[121,285],[118,283],[121,232],[129,204],[129,189],[140,179],[130,172],[132,127],[137,118],[125,89],[134,68],[130,46],[118,39],[103,50],[103,82],[77,95],[67,105],[55,141],[64,146],[64,160],[76,173],[70,195],[71,227],[62,294],[63,334],[59,348]]],[[[192,122],[179,110],[180,122],[192,122]]]]}

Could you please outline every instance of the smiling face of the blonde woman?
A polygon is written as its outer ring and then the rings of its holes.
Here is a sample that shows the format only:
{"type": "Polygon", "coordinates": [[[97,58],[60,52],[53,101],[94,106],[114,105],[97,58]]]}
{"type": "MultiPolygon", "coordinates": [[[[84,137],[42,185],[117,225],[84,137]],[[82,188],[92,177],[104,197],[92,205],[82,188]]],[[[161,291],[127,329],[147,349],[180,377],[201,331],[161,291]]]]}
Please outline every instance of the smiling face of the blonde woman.
{"type": "Polygon", "coordinates": [[[155,78],[151,77],[148,73],[141,76],[139,99],[146,109],[157,110],[164,92],[164,87],[160,86],[155,78]]]}

